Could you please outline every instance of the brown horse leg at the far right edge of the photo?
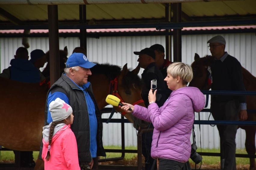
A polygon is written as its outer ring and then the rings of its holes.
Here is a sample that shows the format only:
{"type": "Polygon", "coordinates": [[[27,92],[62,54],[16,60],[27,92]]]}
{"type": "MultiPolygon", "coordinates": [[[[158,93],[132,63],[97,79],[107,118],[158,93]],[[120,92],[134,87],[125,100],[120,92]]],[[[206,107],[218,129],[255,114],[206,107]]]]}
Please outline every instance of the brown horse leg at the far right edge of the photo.
{"type": "MultiPolygon", "coordinates": [[[[255,148],[255,133],[256,126],[244,126],[246,138],[245,138],[245,149],[248,155],[254,156],[256,152],[255,148]]],[[[255,158],[250,158],[250,170],[256,170],[255,158]]]]}

